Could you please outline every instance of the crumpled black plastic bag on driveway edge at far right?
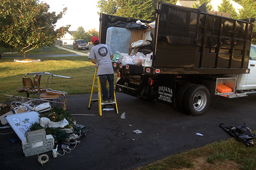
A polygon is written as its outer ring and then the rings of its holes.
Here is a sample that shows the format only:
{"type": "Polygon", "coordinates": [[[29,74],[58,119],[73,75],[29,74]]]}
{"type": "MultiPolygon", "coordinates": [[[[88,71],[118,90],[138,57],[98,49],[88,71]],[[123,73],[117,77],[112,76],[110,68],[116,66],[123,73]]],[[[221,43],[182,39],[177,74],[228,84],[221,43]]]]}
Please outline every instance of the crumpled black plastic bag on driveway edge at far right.
{"type": "Polygon", "coordinates": [[[237,127],[226,126],[225,124],[220,124],[221,128],[225,130],[229,135],[236,138],[238,141],[245,143],[246,145],[253,146],[253,138],[256,135],[247,127],[247,124],[243,124],[237,127]]]}

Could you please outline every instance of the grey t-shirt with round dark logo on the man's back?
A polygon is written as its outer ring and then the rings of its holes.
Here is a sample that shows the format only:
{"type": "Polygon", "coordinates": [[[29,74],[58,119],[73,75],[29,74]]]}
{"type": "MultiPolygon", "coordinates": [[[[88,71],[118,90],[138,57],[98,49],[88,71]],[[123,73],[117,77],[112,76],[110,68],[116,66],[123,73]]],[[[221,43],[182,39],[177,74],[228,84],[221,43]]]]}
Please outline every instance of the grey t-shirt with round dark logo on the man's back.
{"type": "Polygon", "coordinates": [[[114,74],[110,56],[112,56],[112,52],[110,51],[108,45],[98,44],[90,49],[88,58],[96,60],[98,75],[114,74]]]}

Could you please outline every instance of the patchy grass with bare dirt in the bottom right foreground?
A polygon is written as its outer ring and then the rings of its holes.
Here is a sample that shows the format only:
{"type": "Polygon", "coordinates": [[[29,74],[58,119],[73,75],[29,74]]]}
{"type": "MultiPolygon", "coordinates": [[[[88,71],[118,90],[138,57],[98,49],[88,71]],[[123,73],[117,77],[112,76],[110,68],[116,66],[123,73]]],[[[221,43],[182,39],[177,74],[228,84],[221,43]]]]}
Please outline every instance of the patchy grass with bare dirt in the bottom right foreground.
{"type": "MultiPolygon", "coordinates": [[[[255,133],[256,131],[254,131],[255,133]]],[[[254,139],[254,142],[256,140],[254,139]]],[[[256,147],[231,138],[158,160],[135,170],[255,170],[256,147]]]]}

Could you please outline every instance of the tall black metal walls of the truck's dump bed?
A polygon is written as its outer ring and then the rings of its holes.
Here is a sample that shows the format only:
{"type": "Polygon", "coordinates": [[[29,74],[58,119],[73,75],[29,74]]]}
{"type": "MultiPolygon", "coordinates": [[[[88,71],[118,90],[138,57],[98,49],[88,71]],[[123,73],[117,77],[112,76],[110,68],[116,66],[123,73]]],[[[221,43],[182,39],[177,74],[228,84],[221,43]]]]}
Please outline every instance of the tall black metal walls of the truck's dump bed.
{"type": "MultiPolygon", "coordinates": [[[[117,20],[135,22],[137,19],[101,14],[101,42],[106,40],[108,24],[117,20]]],[[[208,14],[195,8],[158,3],[152,66],[142,69],[131,66],[125,72],[136,74],[136,70],[139,70],[138,74],[249,73],[247,66],[253,25],[253,22],[208,14]],[[133,68],[136,70],[132,70],[133,68]]]]}

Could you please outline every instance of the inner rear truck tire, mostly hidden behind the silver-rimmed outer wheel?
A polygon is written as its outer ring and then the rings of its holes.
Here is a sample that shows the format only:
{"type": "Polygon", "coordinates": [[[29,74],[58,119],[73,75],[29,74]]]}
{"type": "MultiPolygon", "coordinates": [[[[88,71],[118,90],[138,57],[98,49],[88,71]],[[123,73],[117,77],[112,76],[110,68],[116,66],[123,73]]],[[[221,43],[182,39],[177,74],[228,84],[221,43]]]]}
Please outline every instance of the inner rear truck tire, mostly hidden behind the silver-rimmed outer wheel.
{"type": "Polygon", "coordinates": [[[185,83],[179,87],[175,95],[175,105],[178,111],[185,113],[185,109],[183,107],[183,99],[185,92],[188,90],[189,87],[193,86],[193,83],[185,83]]]}

